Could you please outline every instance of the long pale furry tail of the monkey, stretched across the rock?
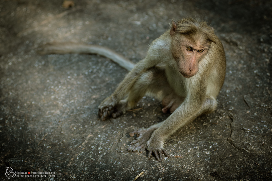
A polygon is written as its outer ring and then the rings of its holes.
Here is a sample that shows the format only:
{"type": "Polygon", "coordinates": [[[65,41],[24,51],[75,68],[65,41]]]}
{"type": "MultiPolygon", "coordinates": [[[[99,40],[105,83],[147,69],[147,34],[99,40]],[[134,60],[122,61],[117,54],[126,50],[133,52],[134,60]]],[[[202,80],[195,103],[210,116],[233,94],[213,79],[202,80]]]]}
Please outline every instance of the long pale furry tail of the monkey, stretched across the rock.
{"type": "Polygon", "coordinates": [[[118,63],[121,67],[130,71],[134,67],[134,63],[118,53],[102,46],[87,45],[83,43],[47,43],[40,47],[37,51],[39,54],[66,54],[66,53],[86,53],[99,54],[118,63]]]}

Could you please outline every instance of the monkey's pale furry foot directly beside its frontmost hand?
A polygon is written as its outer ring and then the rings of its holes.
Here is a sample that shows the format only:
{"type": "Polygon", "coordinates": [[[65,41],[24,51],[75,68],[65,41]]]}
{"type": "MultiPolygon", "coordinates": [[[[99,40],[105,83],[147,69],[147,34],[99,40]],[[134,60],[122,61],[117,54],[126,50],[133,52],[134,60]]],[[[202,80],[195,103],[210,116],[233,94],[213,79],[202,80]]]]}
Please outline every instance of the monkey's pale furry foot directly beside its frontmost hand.
{"type": "Polygon", "coordinates": [[[136,140],[131,142],[131,146],[128,151],[143,152],[147,148],[147,141],[149,140],[154,129],[135,129],[129,135],[132,137],[134,134],[138,137],[136,140]]]}

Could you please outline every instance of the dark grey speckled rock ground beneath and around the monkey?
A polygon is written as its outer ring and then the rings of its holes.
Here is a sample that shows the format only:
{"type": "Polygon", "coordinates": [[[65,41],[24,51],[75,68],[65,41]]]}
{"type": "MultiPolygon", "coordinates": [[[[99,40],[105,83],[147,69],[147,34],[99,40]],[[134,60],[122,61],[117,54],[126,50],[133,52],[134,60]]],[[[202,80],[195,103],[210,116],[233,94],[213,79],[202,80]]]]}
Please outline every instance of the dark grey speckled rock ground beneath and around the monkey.
{"type": "Polygon", "coordinates": [[[1,180],[128,181],[142,171],[139,181],[272,180],[271,1],[74,2],[65,9],[56,0],[0,1],[1,180]],[[227,73],[217,110],[169,138],[163,162],[127,151],[129,132],[169,116],[157,100],[98,119],[126,70],[96,55],[36,53],[45,42],[84,42],[138,62],[171,19],[187,16],[215,27],[227,73]],[[7,167],[17,176],[55,174],[8,179],[7,167]]]}

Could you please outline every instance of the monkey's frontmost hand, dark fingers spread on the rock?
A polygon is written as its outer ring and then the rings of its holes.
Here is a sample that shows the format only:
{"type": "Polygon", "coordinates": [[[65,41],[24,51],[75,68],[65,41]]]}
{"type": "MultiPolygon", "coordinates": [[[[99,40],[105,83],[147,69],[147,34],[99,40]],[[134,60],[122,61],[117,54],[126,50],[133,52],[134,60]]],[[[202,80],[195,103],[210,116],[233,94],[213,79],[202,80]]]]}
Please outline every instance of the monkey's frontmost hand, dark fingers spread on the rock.
{"type": "Polygon", "coordinates": [[[167,153],[167,151],[162,146],[159,146],[159,145],[162,145],[162,144],[163,143],[160,143],[160,141],[152,139],[152,137],[151,137],[151,139],[149,141],[147,141],[147,145],[148,145],[147,150],[149,151],[148,155],[147,155],[147,159],[148,160],[151,159],[152,153],[154,154],[155,158],[158,161],[162,161],[163,160],[163,154],[166,157],[170,158],[170,156],[167,153]]]}

